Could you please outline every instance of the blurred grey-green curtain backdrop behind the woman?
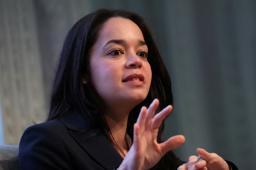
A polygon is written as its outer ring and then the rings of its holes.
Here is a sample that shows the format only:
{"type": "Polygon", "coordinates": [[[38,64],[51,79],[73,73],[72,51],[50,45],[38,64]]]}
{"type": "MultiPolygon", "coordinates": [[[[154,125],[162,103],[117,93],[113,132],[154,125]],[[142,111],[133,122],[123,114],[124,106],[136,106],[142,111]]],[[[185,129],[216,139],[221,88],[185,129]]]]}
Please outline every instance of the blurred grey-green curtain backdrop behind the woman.
{"type": "Polygon", "coordinates": [[[18,145],[32,120],[45,120],[64,37],[100,8],[148,21],[172,79],[174,110],[164,138],[186,137],[180,158],[200,147],[254,169],[254,0],[0,0],[0,144],[18,145]]]}

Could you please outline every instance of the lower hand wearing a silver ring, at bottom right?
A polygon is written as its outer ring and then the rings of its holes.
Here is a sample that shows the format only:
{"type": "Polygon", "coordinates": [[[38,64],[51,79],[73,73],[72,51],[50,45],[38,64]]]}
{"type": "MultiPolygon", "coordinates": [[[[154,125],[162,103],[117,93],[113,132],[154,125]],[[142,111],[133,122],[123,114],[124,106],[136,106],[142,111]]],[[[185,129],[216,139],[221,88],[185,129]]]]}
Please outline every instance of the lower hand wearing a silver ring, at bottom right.
{"type": "Polygon", "coordinates": [[[227,162],[216,153],[208,153],[204,149],[197,148],[196,152],[204,159],[199,159],[197,156],[190,156],[188,162],[179,166],[178,170],[229,170],[227,162]]]}

